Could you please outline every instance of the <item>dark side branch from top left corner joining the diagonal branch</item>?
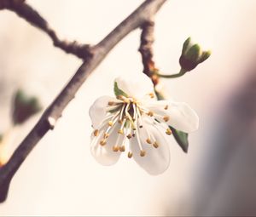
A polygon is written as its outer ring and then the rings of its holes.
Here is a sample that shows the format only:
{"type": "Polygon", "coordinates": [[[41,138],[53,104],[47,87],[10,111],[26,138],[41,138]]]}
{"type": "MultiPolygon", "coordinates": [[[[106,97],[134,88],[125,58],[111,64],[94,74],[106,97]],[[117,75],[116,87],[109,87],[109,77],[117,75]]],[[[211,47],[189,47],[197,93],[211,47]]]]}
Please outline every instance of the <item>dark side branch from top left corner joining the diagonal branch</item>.
{"type": "Polygon", "coordinates": [[[83,60],[91,56],[89,44],[79,44],[76,41],[67,42],[59,39],[48,22],[35,9],[25,3],[25,0],[0,0],[0,9],[9,9],[32,26],[44,31],[52,39],[54,46],[64,50],[67,54],[74,54],[83,60]]]}

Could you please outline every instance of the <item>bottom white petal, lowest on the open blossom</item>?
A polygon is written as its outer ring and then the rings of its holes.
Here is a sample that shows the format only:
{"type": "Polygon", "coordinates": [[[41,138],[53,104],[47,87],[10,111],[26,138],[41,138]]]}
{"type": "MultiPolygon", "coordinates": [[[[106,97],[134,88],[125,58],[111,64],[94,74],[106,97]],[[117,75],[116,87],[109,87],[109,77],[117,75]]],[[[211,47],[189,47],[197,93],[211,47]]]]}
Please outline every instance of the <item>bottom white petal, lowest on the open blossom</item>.
{"type": "MultiPolygon", "coordinates": [[[[133,158],[142,168],[144,168],[148,174],[162,174],[166,171],[170,164],[170,151],[168,147],[168,142],[165,139],[166,134],[164,129],[160,125],[155,125],[154,123],[143,123],[143,128],[140,130],[140,140],[143,146],[143,151],[146,151],[144,157],[140,156],[140,148],[138,146],[137,138],[133,137],[131,139],[131,151],[133,153],[133,158]],[[152,144],[148,144],[147,132],[154,136],[154,139],[159,144],[158,148],[154,148],[152,144]]],[[[153,140],[152,140],[153,142],[153,140]]]]}

